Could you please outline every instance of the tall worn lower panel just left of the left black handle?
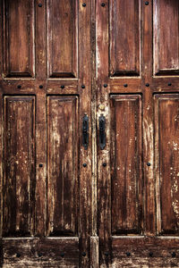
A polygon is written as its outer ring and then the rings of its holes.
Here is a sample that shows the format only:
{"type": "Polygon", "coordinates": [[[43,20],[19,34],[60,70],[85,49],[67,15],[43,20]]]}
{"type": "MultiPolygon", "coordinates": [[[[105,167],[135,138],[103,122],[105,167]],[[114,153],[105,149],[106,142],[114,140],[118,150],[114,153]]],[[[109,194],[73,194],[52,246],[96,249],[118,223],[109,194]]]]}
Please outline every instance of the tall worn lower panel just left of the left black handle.
{"type": "Polygon", "coordinates": [[[47,97],[47,218],[50,235],[77,234],[78,123],[77,96],[47,97]]]}

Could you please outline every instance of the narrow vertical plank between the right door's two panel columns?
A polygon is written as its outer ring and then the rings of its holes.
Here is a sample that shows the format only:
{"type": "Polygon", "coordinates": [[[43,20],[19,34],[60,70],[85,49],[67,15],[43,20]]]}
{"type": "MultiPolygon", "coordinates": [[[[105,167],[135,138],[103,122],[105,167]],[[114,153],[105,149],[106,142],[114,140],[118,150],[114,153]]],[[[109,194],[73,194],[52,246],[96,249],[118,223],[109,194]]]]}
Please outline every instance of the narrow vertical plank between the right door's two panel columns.
{"type": "Polygon", "coordinates": [[[155,188],[154,188],[154,140],[153,140],[153,97],[152,97],[152,7],[153,1],[142,1],[142,92],[143,92],[143,169],[145,194],[145,233],[156,231],[155,188]],[[146,86],[147,85],[147,86],[146,86]]]}

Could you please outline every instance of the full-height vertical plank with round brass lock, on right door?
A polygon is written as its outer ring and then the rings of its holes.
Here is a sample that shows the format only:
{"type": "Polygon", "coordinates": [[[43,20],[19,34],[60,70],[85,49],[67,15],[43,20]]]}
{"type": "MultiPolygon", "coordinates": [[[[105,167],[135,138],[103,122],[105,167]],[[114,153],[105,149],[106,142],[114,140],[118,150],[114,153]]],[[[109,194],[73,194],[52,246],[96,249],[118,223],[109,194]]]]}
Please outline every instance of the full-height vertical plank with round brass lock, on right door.
{"type": "MultiPolygon", "coordinates": [[[[97,126],[100,115],[106,118],[106,147],[101,150],[98,140],[98,237],[99,266],[108,267],[111,262],[111,210],[110,210],[110,117],[109,117],[109,1],[96,2],[96,66],[97,66],[97,126]]],[[[99,126],[98,126],[99,131],[99,126]]]]}

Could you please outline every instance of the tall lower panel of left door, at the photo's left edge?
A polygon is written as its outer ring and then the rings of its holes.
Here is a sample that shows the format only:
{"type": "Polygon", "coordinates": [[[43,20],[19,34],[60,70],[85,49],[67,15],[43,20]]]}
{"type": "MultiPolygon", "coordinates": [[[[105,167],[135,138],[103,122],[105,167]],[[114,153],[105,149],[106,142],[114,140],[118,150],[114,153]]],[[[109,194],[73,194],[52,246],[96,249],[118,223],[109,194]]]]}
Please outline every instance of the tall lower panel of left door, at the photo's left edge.
{"type": "Polygon", "coordinates": [[[4,237],[34,228],[35,97],[4,96],[4,237]]]}

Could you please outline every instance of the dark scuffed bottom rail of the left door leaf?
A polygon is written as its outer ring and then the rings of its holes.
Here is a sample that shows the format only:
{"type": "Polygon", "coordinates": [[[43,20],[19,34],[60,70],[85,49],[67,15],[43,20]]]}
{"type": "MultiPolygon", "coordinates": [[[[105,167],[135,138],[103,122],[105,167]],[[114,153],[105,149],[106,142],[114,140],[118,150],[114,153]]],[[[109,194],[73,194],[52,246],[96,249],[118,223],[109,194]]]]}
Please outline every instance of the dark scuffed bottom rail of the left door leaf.
{"type": "Polygon", "coordinates": [[[79,241],[63,239],[4,239],[4,268],[79,267],[79,241]]]}

